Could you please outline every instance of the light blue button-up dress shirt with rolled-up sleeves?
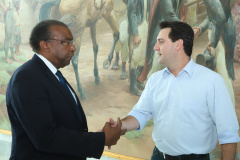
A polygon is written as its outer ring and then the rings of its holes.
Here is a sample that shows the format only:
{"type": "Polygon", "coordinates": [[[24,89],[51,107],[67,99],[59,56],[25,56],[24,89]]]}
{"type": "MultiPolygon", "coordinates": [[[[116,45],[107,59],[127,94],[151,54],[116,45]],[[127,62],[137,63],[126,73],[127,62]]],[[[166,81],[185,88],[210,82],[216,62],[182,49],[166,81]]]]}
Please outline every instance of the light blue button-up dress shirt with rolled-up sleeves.
{"type": "Polygon", "coordinates": [[[240,141],[238,120],[223,78],[192,58],[175,77],[168,68],[155,72],[129,115],[140,130],[153,117],[153,140],[163,153],[205,154],[217,140],[240,141]]]}

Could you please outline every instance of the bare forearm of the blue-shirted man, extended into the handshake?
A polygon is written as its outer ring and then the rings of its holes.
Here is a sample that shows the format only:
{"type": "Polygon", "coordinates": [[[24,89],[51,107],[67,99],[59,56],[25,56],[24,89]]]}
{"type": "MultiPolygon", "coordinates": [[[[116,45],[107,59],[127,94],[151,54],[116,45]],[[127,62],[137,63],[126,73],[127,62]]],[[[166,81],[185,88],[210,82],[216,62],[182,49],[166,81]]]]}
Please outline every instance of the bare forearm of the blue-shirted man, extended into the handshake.
{"type": "Polygon", "coordinates": [[[122,121],[122,129],[127,129],[127,131],[137,130],[140,128],[140,124],[136,118],[133,116],[127,116],[122,121]]]}

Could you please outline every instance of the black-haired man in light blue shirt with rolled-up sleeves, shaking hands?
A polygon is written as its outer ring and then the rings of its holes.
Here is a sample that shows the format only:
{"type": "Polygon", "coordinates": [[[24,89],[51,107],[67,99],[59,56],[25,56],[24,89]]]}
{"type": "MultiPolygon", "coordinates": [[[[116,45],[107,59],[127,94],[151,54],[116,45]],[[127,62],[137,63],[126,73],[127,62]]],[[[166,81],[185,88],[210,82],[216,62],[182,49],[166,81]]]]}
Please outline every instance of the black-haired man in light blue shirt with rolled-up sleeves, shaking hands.
{"type": "Polygon", "coordinates": [[[222,160],[234,160],[239,125],[223,78],[191,58],[188,24],[162,22],[160,28],[154,50],[166,68],[149,78],[122,129],[141,130],[153,117],[152,160],[208,160],[217,140],[222,160]]]}

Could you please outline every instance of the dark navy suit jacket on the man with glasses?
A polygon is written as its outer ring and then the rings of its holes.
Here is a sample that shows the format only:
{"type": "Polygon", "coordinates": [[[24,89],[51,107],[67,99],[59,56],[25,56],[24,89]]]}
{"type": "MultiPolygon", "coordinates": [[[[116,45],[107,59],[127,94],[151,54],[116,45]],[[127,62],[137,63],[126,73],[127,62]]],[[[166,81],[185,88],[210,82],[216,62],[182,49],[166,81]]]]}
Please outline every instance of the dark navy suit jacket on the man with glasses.
{"type": "Polygon", "coordinates": [[[38,56],[15,71],[6,103],[12,127],[11,160],[81,160],[102,155],[105,134],[88,132],[84,113],[81,122],[75,102],[38,56]]]}

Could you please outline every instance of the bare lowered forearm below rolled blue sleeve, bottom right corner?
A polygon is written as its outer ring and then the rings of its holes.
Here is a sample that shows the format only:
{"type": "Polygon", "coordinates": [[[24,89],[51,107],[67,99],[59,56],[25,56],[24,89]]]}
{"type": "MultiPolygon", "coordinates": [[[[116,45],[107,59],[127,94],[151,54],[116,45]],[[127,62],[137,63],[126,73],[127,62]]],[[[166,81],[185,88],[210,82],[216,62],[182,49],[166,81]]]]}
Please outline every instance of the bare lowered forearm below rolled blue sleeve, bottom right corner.
{"type": "Polygon", "coordinates": [[[236,155],[237,143],[226,143],[221,145],[222,160],[234,160],[236,155]]]}

